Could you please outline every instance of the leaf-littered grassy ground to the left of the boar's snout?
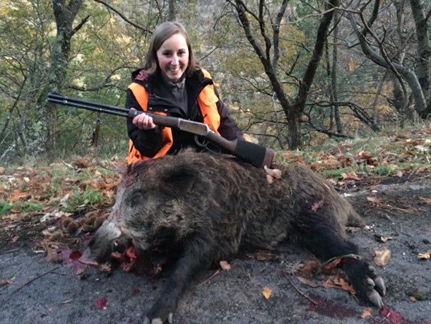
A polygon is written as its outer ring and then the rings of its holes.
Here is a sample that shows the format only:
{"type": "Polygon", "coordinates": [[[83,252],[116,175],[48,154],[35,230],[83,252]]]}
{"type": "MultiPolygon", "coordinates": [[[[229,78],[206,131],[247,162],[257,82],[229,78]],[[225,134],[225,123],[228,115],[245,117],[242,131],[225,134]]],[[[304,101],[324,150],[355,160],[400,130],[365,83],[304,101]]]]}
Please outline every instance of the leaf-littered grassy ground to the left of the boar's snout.
{"type": "MultiPolygon", "coordinates": [[[[85,160],[78,162],[85,169],[54,163],[20,166],[0,175],[3,245],[36,238],[35,243],[45,250],[52,243],[65,248],[78,234],[94,231],[105,221],[121,173],[85,160]]],[[[52,251],[48,260],[57,262],[52,251]]]]}

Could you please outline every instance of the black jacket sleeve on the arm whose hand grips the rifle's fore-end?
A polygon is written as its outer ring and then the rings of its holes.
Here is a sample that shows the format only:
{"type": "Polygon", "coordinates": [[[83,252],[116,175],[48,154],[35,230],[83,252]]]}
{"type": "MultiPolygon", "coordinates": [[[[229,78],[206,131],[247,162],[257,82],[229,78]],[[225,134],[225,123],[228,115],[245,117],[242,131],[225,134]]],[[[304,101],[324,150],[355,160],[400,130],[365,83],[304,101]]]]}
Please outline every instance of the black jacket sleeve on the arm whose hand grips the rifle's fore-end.
{"type": "MultiPolygon", "coordinates": [[[[143,111],[130,89],[127,89],[126,108],[143,111]]],[[[139,129],[134,125],[131,118],[127,118],[127,132],[129,133],[129,138],[134,142],[135,148],[143,156],[152,158],[162,148],[163,137],[162,127],[160,126],[148,130],[139,129]]]]}

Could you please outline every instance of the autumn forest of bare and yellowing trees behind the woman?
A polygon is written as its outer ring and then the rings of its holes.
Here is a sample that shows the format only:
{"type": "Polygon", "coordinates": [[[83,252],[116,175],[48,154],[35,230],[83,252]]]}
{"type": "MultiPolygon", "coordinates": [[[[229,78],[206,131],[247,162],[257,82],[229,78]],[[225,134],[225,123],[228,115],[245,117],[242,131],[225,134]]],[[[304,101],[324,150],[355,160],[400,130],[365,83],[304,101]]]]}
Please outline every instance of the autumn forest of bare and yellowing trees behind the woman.
{"type": "Polygon", "coordinates": [[[306,149],[423,125],[431,113],[428,0],[1,0],[0,13],[0,163],[125,159],[124,118],[47,103],[47,93],[123,107],[167,20],[186,25],[259,144],[306,149]]]}

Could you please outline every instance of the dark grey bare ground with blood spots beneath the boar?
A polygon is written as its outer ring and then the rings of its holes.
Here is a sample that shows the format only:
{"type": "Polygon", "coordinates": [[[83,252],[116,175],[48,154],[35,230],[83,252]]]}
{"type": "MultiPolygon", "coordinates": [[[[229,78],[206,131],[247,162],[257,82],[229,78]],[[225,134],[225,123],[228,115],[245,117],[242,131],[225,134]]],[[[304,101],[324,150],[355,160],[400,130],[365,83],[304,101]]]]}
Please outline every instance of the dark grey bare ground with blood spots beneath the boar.
{"type": "MultiPolygon", "coordinates": [[[[311,256],[283,246],[267,258],[240,255],[227,271],[208,270],[174,323],[431,323],[431,178],[363,182],[344,194],[368,224],[349,233],[363,258],[374,263],[374,248],[391,253],[376,266],[388,289],[384,308],[323,287],[327,274],[301,281],[295,270],[311,256]]],[[[63,253],[47,262],[30,239],[1,241],[1,323],[141,323],[165,284],[145,271],[83,268],[63,253]]]]}

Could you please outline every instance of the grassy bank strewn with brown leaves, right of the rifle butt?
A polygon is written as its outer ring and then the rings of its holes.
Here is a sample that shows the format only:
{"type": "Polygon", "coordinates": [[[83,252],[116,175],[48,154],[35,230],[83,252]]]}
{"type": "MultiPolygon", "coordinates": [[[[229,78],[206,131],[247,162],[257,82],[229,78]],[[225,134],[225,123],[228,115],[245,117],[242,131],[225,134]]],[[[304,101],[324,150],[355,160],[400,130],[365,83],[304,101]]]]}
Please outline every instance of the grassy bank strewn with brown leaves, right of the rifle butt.
{"type": "Polygon", "coordinates": [[[329,139],[302,151],[278,152],[277,161],[304,164],[326,178],[343,173],[384,178],[401,173],[431,170],[431,125],[386,130],[384,134],[346,141],[329,139]]]}

